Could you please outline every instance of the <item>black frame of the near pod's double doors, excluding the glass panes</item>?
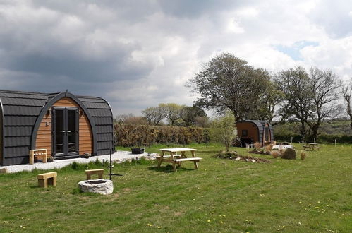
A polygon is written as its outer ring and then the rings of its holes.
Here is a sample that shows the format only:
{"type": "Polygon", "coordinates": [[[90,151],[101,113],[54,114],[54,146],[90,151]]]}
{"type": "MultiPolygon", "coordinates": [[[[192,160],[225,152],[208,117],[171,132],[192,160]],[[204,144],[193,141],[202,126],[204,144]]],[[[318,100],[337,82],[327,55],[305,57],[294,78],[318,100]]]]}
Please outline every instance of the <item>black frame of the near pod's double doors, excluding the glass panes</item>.
{"type": "Polygon", "coordinates": [[[51,107],[51,154],[55,158],[71,158],[78,157],[80,145],[79,145],[79,108],[78,107],[51,107]],[[63,153],[56,154],[56,110],[63,110],[63,125],[64,136],[63,136],[63,153]],[[68,152],[68,111],[75,111],[75,152],[68,152]]]}

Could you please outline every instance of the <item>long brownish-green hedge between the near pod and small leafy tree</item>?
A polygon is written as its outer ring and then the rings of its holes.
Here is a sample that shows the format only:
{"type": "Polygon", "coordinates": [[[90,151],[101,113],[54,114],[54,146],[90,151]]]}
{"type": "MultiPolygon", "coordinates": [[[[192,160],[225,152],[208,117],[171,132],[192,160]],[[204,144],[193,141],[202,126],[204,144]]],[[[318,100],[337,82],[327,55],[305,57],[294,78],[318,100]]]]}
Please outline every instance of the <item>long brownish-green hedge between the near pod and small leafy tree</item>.
{"type": "Polygon", "coordinates": [[[199,127],[148,126],[136,124],[116,124],[114,126],[115,145],[142,146],[154,143],[207,143],[209,131],[199,127]]]}

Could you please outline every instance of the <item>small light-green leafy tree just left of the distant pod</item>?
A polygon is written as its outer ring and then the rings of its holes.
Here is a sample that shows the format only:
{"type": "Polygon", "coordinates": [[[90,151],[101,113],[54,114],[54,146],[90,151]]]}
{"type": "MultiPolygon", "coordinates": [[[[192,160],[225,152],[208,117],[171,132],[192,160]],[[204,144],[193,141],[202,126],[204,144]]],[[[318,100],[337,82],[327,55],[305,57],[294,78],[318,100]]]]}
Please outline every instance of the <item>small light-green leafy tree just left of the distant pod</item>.
{"type": "Polygon", "coordinates": [[[229,152],[233,139],[236,137],[236,123],[232,112],[227,111],[224,116],[212,122],[212,137],[224,143],[226,152],[229,152]]]}

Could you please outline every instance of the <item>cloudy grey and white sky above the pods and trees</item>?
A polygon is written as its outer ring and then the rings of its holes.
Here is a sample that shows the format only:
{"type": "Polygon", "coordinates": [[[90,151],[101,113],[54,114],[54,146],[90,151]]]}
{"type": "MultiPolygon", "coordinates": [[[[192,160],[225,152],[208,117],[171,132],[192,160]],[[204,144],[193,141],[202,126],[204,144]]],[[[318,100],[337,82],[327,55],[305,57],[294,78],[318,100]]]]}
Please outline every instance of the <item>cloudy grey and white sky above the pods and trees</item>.
{"type": "Polygon", "coordinates": [[[351,1],[0,0],[0,89],[104,97],[114,115],[193,104],[202,64],[352,76],[351,1]]]}

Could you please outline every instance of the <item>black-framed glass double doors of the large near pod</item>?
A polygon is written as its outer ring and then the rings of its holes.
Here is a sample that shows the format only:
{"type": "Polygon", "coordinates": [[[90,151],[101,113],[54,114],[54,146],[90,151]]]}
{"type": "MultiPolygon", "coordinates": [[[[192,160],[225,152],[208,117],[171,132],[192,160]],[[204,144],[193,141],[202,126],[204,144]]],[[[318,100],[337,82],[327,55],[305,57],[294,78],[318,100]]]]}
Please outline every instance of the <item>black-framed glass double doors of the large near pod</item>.
{"type": "Polygon", "coordinates": [[[52,122],[53,155],[55,157],[78,155],[78,108],[54,107],[52,122]]]}

